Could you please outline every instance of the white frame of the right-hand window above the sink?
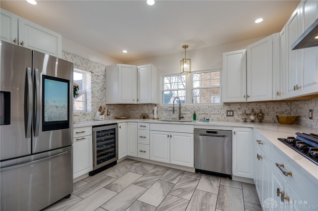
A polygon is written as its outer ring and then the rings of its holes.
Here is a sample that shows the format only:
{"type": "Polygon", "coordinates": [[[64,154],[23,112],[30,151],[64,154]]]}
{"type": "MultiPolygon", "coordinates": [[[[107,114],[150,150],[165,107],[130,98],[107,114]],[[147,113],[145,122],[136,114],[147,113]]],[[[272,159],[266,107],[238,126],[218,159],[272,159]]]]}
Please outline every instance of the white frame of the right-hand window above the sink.
{"type": "MultiPolygon", "coordinates": [[[[216,68],[211,68],[211,69],[205,69],[205,70],[197,70],[197,71],[193,71],[193,72],[191,72],[191,74],[189,74],[189,75],[191,75],[191,87],[190,87],[190,91],[189,91],[189,94],[190,94],[190,104],[191,105],[198,105],[198,106],[205,106],[205,105],[221,105],[222,104],[222,68],[221,67],[216,67],[216,68]],[[201,88],[209,88],[209,89],[211,89],[211,88],[217,88],[217,87],[200,87],[200,88],[198,88],[198,87],[196,87],[196,88],[194,88],[193,87],[193,74],[198,74],[198,73],[207,73],[207,72],[217,72],[217,71],[219,71],[220,72],[220,86],[219,86],[219,88],[220,88],[220,95],[218,95],[218,96],[220,96],[220,103],[204,103],[204,104],[195,104],[195,103],[192,103],[192,90],[193,89],[201,89],[201,88]]],[[[213,97],[213,96],[211,96],[211,97],[213,97]]],[[[212,99],[211,99],[212,100],[212,99]]]]}

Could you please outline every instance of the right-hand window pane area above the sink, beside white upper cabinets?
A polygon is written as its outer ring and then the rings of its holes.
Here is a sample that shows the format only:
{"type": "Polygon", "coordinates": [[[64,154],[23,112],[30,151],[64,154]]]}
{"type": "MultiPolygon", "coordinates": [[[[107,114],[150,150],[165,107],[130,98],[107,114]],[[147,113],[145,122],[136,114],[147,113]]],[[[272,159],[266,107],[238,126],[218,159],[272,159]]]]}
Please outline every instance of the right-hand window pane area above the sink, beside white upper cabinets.
{"type": "Polygon", "coordinates": [[[221,103],[220,69],[192,73],[192,104],[221,103]]]}

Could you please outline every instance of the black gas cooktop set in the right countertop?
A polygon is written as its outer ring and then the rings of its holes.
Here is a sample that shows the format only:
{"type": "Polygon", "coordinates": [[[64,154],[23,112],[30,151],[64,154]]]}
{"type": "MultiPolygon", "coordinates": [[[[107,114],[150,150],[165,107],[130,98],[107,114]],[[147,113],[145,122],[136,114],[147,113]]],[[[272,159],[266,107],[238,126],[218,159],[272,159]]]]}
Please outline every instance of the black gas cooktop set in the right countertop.
{"type": "Polygon", "coordinates": [[[287,137],[287,139],[278,138],[278,140],[318,165],[318,148],[315,143],[313,146],[309,142],[300,141],[294,137],[287,137]]]}

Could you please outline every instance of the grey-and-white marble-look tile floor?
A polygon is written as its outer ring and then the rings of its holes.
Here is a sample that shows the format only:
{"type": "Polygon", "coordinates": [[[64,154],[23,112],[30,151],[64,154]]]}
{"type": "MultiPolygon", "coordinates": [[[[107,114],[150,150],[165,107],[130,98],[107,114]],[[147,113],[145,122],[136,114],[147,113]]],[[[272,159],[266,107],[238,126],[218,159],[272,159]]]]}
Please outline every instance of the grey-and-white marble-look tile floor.
{"type": "Polygon", "coordinates": [[[261,211],[255,186],[125,159],[45,211],[261,211]]]}

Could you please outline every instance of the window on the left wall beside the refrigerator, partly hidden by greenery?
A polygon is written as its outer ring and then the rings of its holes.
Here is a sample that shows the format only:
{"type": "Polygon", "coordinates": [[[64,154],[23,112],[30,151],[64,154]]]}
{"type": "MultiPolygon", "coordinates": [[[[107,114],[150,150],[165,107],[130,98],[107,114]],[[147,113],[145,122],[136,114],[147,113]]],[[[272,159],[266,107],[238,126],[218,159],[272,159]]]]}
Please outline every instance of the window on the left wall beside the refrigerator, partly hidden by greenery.
{"type": "Polygon", "coordinates": [[[73,80],[79,85],[79,96],[74,99],[74,111],[86,111],[86,72],[74,69],[73,80]]]}

